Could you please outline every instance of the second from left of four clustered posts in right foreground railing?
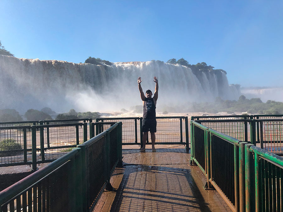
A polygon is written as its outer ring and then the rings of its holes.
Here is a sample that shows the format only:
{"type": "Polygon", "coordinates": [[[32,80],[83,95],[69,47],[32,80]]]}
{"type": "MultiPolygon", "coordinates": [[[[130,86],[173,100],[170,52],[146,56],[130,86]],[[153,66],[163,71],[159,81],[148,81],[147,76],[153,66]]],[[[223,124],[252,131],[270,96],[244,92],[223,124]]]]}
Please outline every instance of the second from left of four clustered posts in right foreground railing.
{"type": "Polygon", "coordinates": [[[247,142],[239,143],[239,205],[241,212],[246,211],[245,144],[247,142]]]}

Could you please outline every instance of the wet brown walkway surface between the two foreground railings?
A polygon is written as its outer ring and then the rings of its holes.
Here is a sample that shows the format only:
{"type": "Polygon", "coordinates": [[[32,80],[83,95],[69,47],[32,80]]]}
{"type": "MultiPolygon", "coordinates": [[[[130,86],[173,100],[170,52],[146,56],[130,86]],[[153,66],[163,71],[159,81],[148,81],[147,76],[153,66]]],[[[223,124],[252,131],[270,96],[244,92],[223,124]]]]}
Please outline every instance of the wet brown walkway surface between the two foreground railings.
{"type": "Polygon", "coordinates": [[[190,166],[186,149],[123,149],[122,168],[111,177],[114,192],[103,192],[94,211],[231,211],[205,177],[190,166]]]}

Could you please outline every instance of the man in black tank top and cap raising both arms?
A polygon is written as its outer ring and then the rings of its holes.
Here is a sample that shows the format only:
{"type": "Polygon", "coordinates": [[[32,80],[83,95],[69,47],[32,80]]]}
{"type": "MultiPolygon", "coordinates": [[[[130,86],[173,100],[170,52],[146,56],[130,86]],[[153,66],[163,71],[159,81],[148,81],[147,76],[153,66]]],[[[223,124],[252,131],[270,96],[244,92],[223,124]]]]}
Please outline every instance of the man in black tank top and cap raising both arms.
{"type": "Polygon", "coordinates": [[[158,98],[158,80],[157,77],[153,78],[155,84],[155,91],[154,91],[154,96],[152,97],[152,92],[151,90],[146,91],[146,96],[144,95],[142,91],[142,86],[141,82],[142,79],[141,77],[138,78],[138,87],[139,91],[141,93],[141,98],[143,102],[143,116],[142,116],[142,148],[141,152],[145,152],[145,145],[147,142],[147,135],[148,131],[150,131],[150,137],[151,137],[151,142],[152,142],[152,152],[156,152],[156,149],[154,147],[155,144],[155,133],[156,133],[156,113],[155,113],[155,108],[156,108],[156,101],[158,98]]]}

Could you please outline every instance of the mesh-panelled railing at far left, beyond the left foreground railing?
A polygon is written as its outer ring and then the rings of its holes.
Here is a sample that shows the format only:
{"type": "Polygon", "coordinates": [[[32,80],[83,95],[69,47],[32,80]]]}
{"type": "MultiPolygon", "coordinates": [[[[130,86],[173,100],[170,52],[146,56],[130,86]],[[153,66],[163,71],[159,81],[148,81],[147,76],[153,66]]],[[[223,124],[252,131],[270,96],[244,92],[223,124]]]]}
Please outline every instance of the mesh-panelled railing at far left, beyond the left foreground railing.
{"type": "Polygon", "coordinates": [[[0,127],[0,167],[56,160],[87,140],[87,123],[0,127]],[[82,130],[80,130],[82,129],[82,130]]]}

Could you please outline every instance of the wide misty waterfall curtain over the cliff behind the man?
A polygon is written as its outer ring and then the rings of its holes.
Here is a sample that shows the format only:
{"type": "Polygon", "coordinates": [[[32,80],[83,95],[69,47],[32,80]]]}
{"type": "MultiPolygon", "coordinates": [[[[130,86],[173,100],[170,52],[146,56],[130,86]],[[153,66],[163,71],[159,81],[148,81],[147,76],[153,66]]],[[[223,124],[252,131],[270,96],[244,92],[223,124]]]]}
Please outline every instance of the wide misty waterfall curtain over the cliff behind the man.
{"type": "Polygon", "coordinates": [[[225,73],[199,73],[181,65],[153,62],[114,63],[112,66],[66,61],[24,59],[0,55],[0,109],[51,107],[56,112],[105,111],[140,105],[137,78],[143,90],[159,80],[158,104],[237,99],[225,73]]]}

